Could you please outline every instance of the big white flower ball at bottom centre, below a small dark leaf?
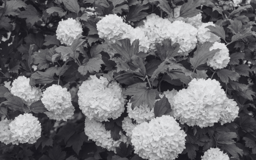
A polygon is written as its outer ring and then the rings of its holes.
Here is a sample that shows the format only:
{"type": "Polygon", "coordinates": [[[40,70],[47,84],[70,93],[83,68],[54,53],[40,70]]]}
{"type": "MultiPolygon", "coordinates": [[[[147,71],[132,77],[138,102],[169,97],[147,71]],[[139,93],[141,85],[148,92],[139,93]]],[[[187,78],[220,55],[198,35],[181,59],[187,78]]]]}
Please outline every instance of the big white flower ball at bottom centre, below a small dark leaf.
{"type": "Polygon", "coordinates": [[[149,160],[173,160],[185,149],[187,134],[176,119],[163,115],[138,124],[132,130],[134,153],[149,160]]]}

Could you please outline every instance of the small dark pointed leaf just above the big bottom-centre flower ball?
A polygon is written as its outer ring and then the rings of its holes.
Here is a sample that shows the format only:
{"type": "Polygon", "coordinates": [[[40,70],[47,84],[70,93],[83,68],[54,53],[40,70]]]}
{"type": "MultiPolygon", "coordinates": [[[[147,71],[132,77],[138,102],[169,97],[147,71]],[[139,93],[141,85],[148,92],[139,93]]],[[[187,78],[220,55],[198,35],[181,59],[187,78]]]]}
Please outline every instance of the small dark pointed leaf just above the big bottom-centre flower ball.
{"type": "Polygon", "coordinates": [[[165,97],[161,98],[161,100],[156,101],[154,107],[154,114],[156,117],[161,117],[165,114],[168,114],[172,111],[171,104],[168,99],[165,97]]]}

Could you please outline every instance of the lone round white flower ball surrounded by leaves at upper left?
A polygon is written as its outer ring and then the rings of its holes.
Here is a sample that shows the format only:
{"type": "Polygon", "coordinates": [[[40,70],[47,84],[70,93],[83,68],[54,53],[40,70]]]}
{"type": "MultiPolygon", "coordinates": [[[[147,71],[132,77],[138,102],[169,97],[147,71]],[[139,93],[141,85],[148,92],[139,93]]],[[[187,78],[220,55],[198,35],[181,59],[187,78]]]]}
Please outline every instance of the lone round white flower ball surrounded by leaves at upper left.
{"type": "Polygon", "coordinates": [[[61,44],[70,46],[74,40],[83,32],[82,25],[79,21],[73,18],[67,20],[61,20],[56,30],[57,39],[61,44]]]}

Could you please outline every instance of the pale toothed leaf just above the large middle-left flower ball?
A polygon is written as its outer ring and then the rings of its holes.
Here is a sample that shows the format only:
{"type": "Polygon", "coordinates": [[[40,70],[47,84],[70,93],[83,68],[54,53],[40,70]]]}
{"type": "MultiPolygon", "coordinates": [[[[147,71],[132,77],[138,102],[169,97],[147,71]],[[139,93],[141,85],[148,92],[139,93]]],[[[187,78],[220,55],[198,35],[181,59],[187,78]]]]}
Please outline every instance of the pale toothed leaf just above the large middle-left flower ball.
{"type": "Polygon", "coordinates": [[[86,75],[88,71],[89,73],[94,73],[94,71],[99,72],[101,64],[104,64],[103,60],[100,58],[92,58],[86,62],[84,66],[79,66],[78,72],[81,73],[81,75],[86,75]]]}

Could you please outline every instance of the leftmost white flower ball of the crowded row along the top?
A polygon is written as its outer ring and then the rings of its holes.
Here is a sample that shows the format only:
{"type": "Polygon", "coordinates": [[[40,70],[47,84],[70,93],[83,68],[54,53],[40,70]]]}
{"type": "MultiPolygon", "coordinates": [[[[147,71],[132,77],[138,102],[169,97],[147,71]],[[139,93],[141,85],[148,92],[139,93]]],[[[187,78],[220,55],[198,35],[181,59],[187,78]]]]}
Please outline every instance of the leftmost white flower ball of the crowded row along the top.
{"type": "Polygon", "coordinates": [[[124,23],[123,19],[116,14],[106,15],[97,23],[99,37],[104,38],[108,44],[123,39],[123,35],[131,28],[132,26],[124,23]]]}

